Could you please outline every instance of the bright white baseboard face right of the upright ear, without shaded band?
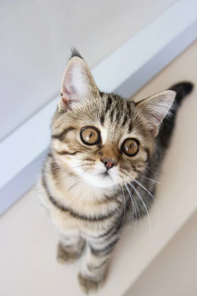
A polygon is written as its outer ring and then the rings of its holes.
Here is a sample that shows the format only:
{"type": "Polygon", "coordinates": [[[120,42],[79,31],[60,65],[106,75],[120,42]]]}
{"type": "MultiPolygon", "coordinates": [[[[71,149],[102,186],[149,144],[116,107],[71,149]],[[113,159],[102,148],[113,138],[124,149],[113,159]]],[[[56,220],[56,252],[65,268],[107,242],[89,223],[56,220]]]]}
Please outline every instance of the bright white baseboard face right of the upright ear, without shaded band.
{"type": "Polygon", "coordinates": [[[114,91],[196,20],[196,0],[180,0],[170,6],[93,69],[100,89],[114,91]]]}

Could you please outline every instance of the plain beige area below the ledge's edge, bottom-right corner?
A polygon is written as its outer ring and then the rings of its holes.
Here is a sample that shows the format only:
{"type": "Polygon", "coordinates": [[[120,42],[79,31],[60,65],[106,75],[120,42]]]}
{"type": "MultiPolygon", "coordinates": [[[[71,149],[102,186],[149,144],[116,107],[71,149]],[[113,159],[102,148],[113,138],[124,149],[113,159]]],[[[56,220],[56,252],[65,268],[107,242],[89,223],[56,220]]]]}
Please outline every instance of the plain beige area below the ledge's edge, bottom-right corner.
{"type": "Polygon", "coordinates": [[[197,296],[197,212],[125,296],[197,296]]]}

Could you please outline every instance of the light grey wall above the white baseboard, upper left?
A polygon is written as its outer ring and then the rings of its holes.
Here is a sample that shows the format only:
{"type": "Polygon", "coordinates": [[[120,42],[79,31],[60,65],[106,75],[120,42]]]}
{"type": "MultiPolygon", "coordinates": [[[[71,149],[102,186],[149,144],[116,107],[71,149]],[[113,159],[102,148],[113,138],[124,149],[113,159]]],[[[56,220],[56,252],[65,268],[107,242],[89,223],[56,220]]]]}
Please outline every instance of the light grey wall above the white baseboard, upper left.
{"type": "Polygon", "coordinates": [[[92,67],[173,2],[0,1],[0,139],[57,95],[71,45],[92,67]]]}

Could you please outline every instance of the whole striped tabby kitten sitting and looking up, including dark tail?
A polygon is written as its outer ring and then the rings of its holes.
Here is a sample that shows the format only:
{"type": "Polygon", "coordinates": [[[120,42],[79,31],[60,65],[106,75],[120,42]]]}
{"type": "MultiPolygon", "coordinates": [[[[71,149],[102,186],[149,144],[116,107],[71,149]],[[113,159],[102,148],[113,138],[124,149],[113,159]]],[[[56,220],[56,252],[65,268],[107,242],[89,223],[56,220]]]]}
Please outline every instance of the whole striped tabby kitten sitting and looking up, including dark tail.
{"type": "Polygon", "coordinates": [[[160,169],[177,108],[192,88],[183,82],[138,103],[127,101],[100,92],[73,50],[38,186],[60,231],[58,261],[75,261],[87,246],[78,275],[85,293],[104,282],[124,219],[148,212],[155,191],[152,170],[160,169]]]}

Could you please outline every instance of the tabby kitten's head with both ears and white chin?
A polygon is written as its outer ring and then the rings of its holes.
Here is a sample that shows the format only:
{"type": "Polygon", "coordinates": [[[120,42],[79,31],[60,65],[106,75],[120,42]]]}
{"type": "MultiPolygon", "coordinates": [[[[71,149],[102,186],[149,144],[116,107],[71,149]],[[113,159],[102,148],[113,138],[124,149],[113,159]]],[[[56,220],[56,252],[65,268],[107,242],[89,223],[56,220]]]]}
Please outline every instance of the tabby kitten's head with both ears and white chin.
{"type": "Polygon", "coordinates": [[[74,51],[51,125],[56,162],[95,186],[137,178],[154,153],[154,139],[174,98],[170,90],[138,103],[101,93],[88,65],[74,51]]]}

